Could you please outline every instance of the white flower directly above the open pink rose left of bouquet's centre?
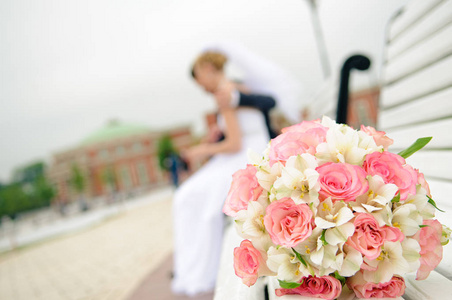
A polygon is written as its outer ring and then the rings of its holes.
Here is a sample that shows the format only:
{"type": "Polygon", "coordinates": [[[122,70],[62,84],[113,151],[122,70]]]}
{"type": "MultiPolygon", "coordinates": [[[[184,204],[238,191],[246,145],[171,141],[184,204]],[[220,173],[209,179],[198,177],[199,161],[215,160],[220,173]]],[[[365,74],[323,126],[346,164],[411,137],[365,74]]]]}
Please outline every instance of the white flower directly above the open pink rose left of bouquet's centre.
{"type": "Polygon", "coordinates": [[[308,153],[290,157],[282,168],[281,177],[273,184],[276,199],[290,197],[296,204],[318,204],[319,173],[316,158],[308,153]]]}

